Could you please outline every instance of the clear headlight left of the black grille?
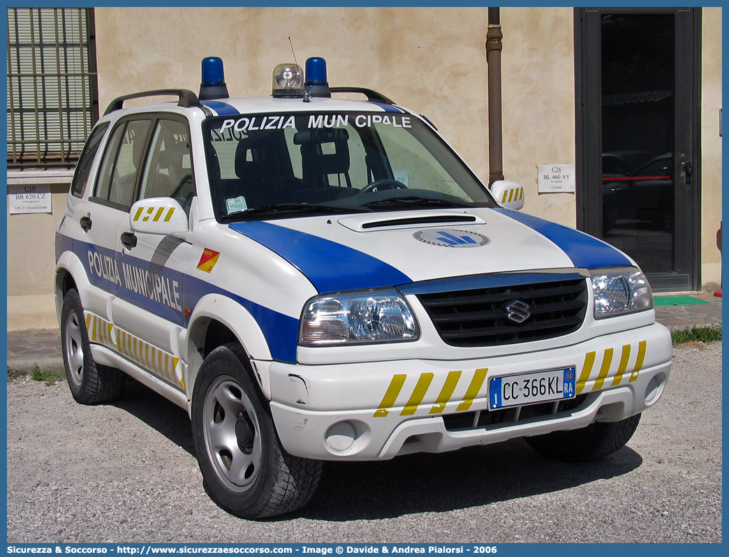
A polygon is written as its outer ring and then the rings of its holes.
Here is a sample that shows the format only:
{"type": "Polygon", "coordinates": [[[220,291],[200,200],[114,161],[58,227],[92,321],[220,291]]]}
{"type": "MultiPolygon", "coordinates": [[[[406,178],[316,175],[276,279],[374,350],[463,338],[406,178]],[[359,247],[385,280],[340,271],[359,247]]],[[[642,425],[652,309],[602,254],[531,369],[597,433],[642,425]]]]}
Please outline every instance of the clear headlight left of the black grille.
{"type": "Polygon", "coordinates": [[[303,346],[416,340],[418,325],[410,306],[395,290],[375,290],[312,298],[299,330],[303,346]]]}

